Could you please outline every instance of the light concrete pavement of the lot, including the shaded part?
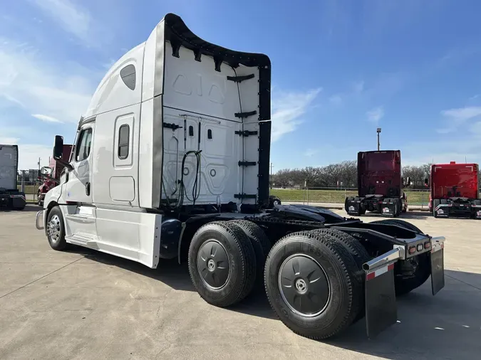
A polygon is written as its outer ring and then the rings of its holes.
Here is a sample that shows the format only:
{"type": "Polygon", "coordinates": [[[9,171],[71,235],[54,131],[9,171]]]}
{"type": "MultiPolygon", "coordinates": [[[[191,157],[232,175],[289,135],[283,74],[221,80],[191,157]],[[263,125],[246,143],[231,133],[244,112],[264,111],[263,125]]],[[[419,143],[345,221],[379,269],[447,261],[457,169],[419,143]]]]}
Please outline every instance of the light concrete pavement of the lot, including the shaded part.
{"type": "MultiPolygon", "coordinates": [[[[361,320],[315,342],[276,319],[262,292],[207,305],[185,265],[157,270],[91,250],[61,253],[33,225],[36,208],[0,212],[0,359],[477,359],[481,223],[404,216],[445,235],[446,286],[398,300],[399,323],[366,339],[361,320]]],[[[343,211],[338,211],[343,213],[343,211]]],[[[403,216],[403,217],[404,217],[403,216]]],[[[363,217],[365,221],[378,216],[363,217]]]]}

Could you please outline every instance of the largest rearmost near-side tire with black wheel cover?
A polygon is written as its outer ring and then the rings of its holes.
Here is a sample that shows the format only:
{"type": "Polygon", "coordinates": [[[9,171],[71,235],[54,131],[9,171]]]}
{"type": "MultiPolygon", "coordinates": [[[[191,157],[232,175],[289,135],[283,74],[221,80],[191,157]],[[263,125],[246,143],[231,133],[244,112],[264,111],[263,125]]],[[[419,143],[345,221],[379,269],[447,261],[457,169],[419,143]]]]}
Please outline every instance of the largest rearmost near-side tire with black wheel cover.
{"type": "Polygon", "coordinates": [[[267,257],[267,298],[293,332],[326,339],[346,329],[358,314],[356,271],[351,255],[326,234],[291,233],[277,241],[267,257]]]}

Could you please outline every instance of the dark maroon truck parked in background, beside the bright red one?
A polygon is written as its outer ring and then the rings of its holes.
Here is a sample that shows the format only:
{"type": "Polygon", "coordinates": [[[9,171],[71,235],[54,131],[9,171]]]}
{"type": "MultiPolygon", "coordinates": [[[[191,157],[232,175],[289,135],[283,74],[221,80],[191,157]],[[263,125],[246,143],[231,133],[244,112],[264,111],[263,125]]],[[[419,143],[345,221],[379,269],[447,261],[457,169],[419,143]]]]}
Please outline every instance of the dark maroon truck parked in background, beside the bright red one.
{"type": "Polygon", "coordinates": [[[394,218],[408,210],[400,150],[358,152],[358,196],[346,198],[344,207],[349,215],[370,211],[394,218]]]}

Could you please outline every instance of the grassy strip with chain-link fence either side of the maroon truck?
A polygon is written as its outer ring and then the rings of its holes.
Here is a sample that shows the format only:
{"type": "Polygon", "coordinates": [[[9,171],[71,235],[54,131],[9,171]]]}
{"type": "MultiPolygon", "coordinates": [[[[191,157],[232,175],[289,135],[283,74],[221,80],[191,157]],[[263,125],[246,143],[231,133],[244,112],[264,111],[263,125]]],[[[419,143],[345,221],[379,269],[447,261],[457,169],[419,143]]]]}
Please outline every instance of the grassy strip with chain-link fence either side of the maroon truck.
{"type": "MultiPolygon", "coordinates": [[[[428,208],[429,189],[405,189],[408,196],[408,206],[428,208]]],[[[271,195],[278,196],[281,201],[299,203],[338,203],[344,204],[346,197],[357,196],[355,188],[317,188],[317,187],[292,187],[272,188],[271,195]]]]}

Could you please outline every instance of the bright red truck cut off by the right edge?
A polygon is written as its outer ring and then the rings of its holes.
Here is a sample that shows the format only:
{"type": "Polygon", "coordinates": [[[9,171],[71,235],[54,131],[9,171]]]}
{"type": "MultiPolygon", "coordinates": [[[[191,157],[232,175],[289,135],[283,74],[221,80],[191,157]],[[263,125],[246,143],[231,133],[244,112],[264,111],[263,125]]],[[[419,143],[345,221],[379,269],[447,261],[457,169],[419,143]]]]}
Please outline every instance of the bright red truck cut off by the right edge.
{"type": "Polygon", "coordinates": [[[435,218],[465,216],[481,219],[477,164],[431,165],[429,209],[435,218]]]}

